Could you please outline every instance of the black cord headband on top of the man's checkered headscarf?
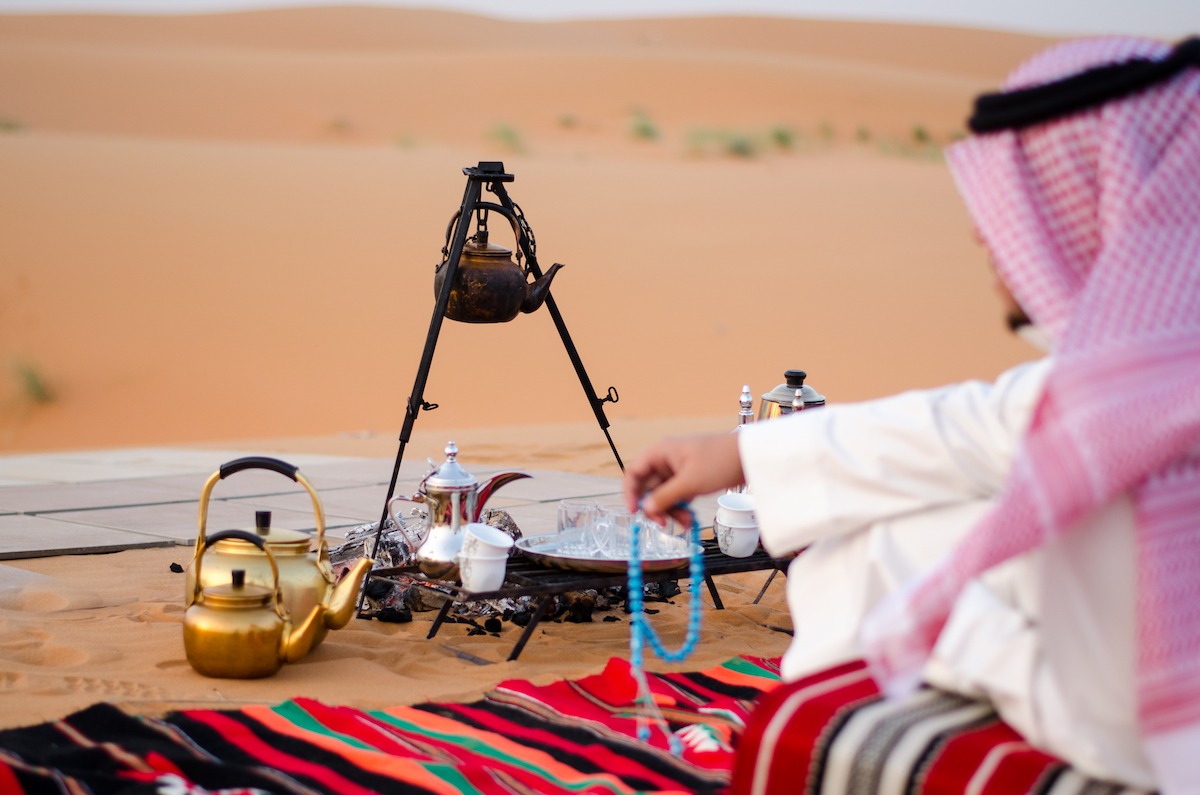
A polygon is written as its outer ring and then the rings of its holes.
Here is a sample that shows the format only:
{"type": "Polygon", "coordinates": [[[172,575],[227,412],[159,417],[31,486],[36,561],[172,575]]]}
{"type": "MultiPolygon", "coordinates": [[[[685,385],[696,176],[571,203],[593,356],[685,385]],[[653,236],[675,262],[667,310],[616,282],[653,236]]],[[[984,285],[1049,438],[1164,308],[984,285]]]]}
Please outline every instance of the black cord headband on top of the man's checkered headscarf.
{"type": "Polygon", "coordinates": [[[977,133],[1020,130],[1141,91],[1188,67],[1200,67],[1200,38],[1195,36],[1184,38],[1160,61],[1138,58],[1096,66],[1054,83],[984,94],[976,100],[967,126],[977,133]]]}

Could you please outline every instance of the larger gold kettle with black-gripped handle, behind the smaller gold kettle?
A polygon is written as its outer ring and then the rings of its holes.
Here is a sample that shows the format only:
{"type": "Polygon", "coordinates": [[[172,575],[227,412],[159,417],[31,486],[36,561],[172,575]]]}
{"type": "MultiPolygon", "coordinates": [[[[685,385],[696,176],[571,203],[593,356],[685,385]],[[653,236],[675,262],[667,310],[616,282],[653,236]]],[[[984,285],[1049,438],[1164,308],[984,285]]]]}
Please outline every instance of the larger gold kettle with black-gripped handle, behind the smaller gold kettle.
{"type": "Polygon", "coordinates": [[[336,581],[329,561],[329,546],[325,543],[325,512],[320,497],[300,471],[284,461],[265,456],[248,456],[223,464],[209,477],[200,494],[199,533],[196,537],[196,556],[187,575],[187,605],[191,605],[199,590],[214,585],[228,584],[232,573],[245,572],[250,585],[270,587],[278,569],[280,590],[283,594],[283,608],[289,615],[307,616],[319,608],[316,647],[329,629],[341,629],[354,615],[359,588],[374,561],[360,558],[353,568],[336,581]],[[271,527],[269,510],[256,514],[254,532],[251,533],[263,544],[251,544],[241,537],[226,538],[218,543],[209,543],[204,536],[208,524],[209,497],[218,480],[245,470],[269,470],[295,480],[312,497],[313,513],[317,518],[316,549],[310,550],[311,538],[307,533],[282,527],[271,527]],[[200,576],[200,556],[211,548],[211,560],[204,567],[200,576]],[[264,554],[270,551],[270,556],[264,554]]]}

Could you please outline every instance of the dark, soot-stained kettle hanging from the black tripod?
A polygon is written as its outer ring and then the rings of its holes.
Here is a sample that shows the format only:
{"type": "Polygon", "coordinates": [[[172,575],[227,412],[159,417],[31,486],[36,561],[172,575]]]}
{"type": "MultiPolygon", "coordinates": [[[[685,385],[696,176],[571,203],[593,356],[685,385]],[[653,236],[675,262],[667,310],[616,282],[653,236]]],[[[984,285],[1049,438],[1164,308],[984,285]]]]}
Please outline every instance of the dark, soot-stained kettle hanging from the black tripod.
{"type": "MultiPolygon", "coordinates": [[[[487,204],[508,217],[516,239],[517,261],[521,259],[521,229],[516,219],[499,204],[487,204]]],[[[445,316],[463,323],[505,323],[518,312],[534,312],[550,294],[550,282],[563,265],[554,263],[540,279],[529,282],[529,269],[512,261],[512,252],[487,240],[487,209],[479,214],[478,229],[468,238],[458,257],[458,269],[450,285],[445,316]]],[[[446,245],[442,262],[433,273],[433,294],[440,295],[450,261],[450,234],[461,211],[455,213],[446,228],[446,245]]]]}

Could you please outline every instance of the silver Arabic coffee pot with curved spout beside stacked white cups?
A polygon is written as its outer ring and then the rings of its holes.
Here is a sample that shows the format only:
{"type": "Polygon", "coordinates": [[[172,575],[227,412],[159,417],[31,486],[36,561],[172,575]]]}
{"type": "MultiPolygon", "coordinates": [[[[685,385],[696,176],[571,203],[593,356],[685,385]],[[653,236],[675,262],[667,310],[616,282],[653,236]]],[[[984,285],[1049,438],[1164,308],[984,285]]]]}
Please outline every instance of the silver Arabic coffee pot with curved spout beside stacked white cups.
{"type": "Polygon", "coordinates": [[[479,483],[458,464],[458,447],[450,442],[445,448],[446,460],[421,480],[412,497],[394,497],[388,501],[388,512],[401,528],[415,551],[421,573],[438,580],[458,578],[458,552],[462,551],[462,528],[479,521],[484,504],[492,494],[506,483],[528,478],[524,472],[502,472],[479,483]],[[427,532],[419,537],[412,522],[396,514],[401,503],[420,503],[425,508],[427,532]]]}

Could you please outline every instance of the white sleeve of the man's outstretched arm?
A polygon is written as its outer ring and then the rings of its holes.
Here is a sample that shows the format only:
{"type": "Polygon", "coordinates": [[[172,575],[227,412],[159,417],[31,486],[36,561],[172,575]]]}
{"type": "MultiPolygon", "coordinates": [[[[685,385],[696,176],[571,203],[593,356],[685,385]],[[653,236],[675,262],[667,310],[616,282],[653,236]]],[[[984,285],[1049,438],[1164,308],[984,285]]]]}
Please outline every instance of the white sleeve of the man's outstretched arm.
{"type": "Polygon", "coordinates": [[[1049,359],[970,381],[743,426],[763,546],[785,555],[914,512],[995,496],[1049,359]]]}

